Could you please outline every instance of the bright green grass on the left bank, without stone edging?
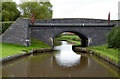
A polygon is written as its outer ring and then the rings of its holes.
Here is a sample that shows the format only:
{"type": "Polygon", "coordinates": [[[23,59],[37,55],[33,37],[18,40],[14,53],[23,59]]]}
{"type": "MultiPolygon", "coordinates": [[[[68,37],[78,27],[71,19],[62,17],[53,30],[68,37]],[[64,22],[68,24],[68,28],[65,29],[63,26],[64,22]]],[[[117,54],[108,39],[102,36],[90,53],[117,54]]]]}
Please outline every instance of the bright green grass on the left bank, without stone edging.
{"type": "Polygon", "coordinates": [[[1,43],[1,44],[2,44],[2,57],[0,58],[23,53],[25,51],[29,52],[30,50],[33,49],[51,48],[49,45],[36,39],[31,40],[31,45],[29,47],[23,45],[17,45],[17,44],[9,44],[9,43],[1,43]]]}

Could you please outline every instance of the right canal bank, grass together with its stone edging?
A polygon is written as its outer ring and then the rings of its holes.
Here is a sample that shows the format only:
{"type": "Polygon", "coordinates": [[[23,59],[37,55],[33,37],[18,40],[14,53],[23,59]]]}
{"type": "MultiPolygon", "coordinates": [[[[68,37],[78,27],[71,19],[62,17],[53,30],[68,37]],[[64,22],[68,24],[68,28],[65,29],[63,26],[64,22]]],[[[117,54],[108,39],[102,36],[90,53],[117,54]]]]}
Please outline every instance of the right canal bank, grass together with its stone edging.
{"type": "Polygon", "coordinates": [[[104,46],[96,46],[96,47],[78,47],[73,45],[73,50],[76,52],[83,52],[94,54],[95,56],[107,61],[108,63],[120,68],[120,52],[118,49],[106,49],[107,45],[104,46]],[[106,49],[106,50],[105,50],[106,49]],[[107,51],[107,52],[106,52],[107,51]],[[117,53],[117,54],[116,54],[117,53]]]}

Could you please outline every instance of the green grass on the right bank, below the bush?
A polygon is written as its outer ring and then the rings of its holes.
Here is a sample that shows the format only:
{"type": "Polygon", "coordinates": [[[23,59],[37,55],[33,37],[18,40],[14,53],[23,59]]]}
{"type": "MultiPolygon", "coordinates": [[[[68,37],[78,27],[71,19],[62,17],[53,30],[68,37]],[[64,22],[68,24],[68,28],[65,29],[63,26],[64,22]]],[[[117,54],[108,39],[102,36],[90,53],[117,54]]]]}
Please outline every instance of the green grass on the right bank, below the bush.
{"type": "Polygon", "coordinates": [[[103,57],[109,57],[114,62],[119,62],[120,51],[118,49],[108,48],[107,45],[87,47],[86,49],[93,50],[95,53],[100,54],[103,57]]]}

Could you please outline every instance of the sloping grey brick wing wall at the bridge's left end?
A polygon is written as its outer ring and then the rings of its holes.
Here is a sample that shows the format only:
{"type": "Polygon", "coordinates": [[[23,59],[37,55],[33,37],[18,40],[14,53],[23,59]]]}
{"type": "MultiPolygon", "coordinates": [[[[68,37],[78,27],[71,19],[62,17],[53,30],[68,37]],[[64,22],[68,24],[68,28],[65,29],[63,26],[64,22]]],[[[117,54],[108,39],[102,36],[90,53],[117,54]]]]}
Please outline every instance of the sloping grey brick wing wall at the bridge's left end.
{"type": "Polygon", "coordinates": [[[0,40],[4,43],[13,43],[27,46],[27,27],[29,19],[18,18],[7,31],[2,34],[0,40]]]}

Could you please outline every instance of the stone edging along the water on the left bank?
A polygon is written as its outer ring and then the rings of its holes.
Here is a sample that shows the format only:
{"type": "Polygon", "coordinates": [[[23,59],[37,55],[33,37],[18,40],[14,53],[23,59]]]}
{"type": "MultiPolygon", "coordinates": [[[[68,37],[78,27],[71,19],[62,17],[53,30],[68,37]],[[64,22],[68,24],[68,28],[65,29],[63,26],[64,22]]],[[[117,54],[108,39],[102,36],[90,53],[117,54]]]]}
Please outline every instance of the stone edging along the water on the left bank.
{"type": "Polygon", "coordinates": [[[35,50],[31,50],[30,52],[24,52],[24,53],[16,54],[16,55],[13,55],[13,56],[8,56],[8,57],[1,58],[0,63],[4,64],[4,63],[10,62],[10,61],[13,61],[15,59],[21,58],[21,57],[31,55],[33,53],[43,53],[43,52],[51,52],[51,51],[53,51],[53,48],[50,48],[50,49],[35,49],[35,50]]]}

